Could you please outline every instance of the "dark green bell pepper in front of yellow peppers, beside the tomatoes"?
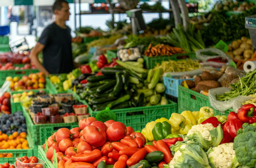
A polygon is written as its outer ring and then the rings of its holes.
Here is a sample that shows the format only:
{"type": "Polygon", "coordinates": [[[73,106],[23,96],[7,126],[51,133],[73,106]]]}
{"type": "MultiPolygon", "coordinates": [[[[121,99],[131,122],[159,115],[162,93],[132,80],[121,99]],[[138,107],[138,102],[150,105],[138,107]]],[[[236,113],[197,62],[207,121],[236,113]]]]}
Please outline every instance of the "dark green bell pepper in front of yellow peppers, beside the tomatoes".
{"type": "Polygon", "coordinates": [[[164,139],[168,134],[172,133],[172,126],[164,121],[162,123],[156,123],[152,129],[153,137],[156,141],[164,139]]]}

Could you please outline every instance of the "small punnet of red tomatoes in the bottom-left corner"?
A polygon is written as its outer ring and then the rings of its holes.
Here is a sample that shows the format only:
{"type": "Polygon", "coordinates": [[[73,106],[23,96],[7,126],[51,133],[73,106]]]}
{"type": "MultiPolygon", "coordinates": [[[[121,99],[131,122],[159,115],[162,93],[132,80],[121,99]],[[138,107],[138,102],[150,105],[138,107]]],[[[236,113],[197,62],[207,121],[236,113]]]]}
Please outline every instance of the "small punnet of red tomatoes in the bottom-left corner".
{"type": "Polygon", "coordinates": [[[23,156],[20,157],[16,162],[15,165],[19,168],[24,167],[24,168],[42,168],[44,167],[43,164],[38,163],[38,158],[35,156],[23,156]]]}

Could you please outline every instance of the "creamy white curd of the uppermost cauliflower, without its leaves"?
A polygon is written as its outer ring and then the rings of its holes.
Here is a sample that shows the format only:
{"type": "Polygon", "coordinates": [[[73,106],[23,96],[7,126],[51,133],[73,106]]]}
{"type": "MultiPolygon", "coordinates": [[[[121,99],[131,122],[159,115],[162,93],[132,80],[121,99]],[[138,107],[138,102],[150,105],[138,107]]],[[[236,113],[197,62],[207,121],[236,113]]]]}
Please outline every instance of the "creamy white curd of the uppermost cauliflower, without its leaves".
{"type": "Polygon", "coordinates": [[[212,126],[212,124],[210,123],[193,125],[191,129],[188,131],[187,135],[191,135],[194,132],[199,131],[205,140],[211,141],[209,130],[214,130],[214,129],[215,127],[212,126]]]}

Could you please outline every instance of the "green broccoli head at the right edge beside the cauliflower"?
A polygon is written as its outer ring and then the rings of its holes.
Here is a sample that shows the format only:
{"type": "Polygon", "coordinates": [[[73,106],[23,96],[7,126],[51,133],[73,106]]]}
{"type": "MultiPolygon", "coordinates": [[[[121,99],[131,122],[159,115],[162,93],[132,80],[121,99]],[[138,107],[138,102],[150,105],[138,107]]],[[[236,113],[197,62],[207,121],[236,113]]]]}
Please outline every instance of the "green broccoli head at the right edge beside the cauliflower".
{"type": "Polygon", "coordinates": [[[233,148],[236,151],[237,160],[240,164],[249,167],[256,166],[256,123],[243,124],[238,135],[234,138],[233,148]]]}

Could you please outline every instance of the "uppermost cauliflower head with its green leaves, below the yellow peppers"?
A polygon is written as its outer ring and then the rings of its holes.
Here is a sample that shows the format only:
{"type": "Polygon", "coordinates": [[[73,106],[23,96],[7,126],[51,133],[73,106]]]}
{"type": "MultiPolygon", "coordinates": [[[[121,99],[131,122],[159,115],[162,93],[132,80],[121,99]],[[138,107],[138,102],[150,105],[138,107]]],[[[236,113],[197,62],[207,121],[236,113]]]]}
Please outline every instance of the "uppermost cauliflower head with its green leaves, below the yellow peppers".
{"type": "Polygon", "coordinates": [[[223,139],[223,130],[221,126],[212,126],[212,124],[194,125],[187,133],[185,140],[194,141],[207,151],[210,147],[217,147],[223,139]]]}

